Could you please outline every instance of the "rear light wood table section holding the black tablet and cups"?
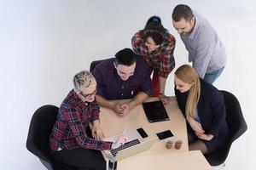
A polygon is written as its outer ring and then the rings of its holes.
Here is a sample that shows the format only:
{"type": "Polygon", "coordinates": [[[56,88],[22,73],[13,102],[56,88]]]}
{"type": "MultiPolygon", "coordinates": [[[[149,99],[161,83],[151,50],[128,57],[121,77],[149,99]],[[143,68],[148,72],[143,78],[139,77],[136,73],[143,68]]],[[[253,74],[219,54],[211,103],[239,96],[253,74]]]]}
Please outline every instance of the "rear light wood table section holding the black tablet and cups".
{"type": "MultiPolygon", "coordinates": [[[[150,98],[147,101],[155,101],[157,98],[150,98]]],[[[119,100],[120,102],[124,102],[125,100],[119,100]]],[[[147,102],[146,101],[146,102],[147,102]]],[[[169,104],[165,105],[168,116],[170,117],[169,121],[163,122],[148,122],[147,117],[143,111],[142,105],[137,105],[137,107],[133,108],[131,112],[127,116],[118,116],[113,111],[102,107],[100,120],[103,132],[106,137],[116,135],[118,133],[122,133],[125,129],[137,129],[139,127],[143,127],[146,133],[148,133],[148,139],[155,138],[155,133],[160,133],[167,129],[171,129],[172,133],[174,133],[175,137],[172,139],[182,139],[183,145],[180,150],[173,149],[172,152],[179,151],[188,151],[188,137],[186,130],[186,121],[178,109],[177,101],[175,97],[171,98],[169,104]]],[[[148,154],[160,154],[167,153],[170,150],[166,149],[166,141],[161,140],[157,141],[153,144],[150,150],[144,151],[143,155],[148,154]]]]}

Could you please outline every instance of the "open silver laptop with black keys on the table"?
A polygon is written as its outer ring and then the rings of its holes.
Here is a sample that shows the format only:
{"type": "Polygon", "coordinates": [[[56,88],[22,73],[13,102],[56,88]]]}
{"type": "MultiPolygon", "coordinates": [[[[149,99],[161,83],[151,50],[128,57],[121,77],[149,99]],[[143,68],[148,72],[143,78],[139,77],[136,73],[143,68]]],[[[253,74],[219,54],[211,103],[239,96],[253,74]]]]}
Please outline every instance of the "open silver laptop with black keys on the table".
{"type": "Polygon", "coordinates": [[[108,157],[109,161],[119,161],[125,157],[135,155],[137,153],[148,150],[156,141],[154,139],[143,139],[136,129],[126,131],[125,134],[118,134],[109,138],[104,139],[104,141],[115,142],[120,135],[125,135],[129,139],[125,144],[121,145],[117,149],[113,150],[103,150],[103,153],[108,157]]]}

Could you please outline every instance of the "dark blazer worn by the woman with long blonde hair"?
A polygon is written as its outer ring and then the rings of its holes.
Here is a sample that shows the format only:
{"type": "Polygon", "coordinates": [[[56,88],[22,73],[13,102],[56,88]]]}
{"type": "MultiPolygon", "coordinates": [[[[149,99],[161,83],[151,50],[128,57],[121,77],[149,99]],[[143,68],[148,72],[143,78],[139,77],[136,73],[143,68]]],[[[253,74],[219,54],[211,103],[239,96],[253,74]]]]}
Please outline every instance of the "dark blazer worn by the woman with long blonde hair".
{"type": "MultiPolygon", "coordinates": [[[[223,94],[212,84],[200,79],[201,95],[197,105],[201,126],[205,133],[210,133],[214,137],[228,135],[228,125],[225,121],[226,111],[223,94]]],[[[181,93],[175,87],[177,105],[185,116],[185,108],[189,93],[181,93]]],[[[191,131],[189,123],[188,129],[191,131]]]]}

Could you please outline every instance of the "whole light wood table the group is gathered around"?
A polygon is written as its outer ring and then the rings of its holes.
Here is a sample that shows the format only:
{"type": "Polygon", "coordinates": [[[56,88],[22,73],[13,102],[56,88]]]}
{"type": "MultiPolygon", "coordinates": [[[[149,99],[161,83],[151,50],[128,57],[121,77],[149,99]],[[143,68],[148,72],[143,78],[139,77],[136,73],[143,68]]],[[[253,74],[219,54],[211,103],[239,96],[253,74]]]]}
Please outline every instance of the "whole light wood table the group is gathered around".
{"type": "MultiPolygon", "coordinates": [[[[150,98],[148,101],[155,101],[158,98],[150,98]]],[[[119,100],[119,102],[125,102],[126,100],[119,100]]],[[[118,133],[122,133],[124,129],[137,129],[139,127],[143,127],[143,129],[148,133],[148,139],[155,138],[155,133],[160,133],[167,129],[171,129],[172,133],[174,133],[173,140],[182,139],[183,145],[180,150],[174,149],[172,147],[171,150],[166,149],[166,140],[156,141],[153,146],[142,153],[139,153],[135,156],[131,156],[129,158],[125,158],[118,162],[118,169],[159,169],[157,165],[162,164],[163,167],[169,166],[169,164],[165,164],[165,161],[152,161],[156,160],[178,160],[178,161],[170,161],[173,166],[184,166],[185,162],[192,163],[195,161],[195,167],[198,165],[201,167],[201,163],[204,164],[204,167],[209,166],[204,156],[202,156],[198,151],[189,152],[189,144],[187,137],[187,127],[186,120],[184,119],[181,111],[178,109],[177,100],[175,97],[171,98],[169,104],[165,105],[168,116],[170,117],[169,121],[164,122],[148,122],[147,117],[143,111],[142,105],[137,105],[137,107],[133,108],[127,116],[118,116],[113,111],[101,107],[100,120],[102,129],[106,137],[116,135],[118,133]],[[183,159],[185,157],[185,161],[183,159]],[[174,159],[177,157],[177,159],[174,159]],[[191,159],[190,159],[191,158],[191,159]],[[203,159],[204,158],[204,159],[203,159]],[[152,160],[151,160],[152,159],[152,160]],[[147,162],[144,167],[129,167],[131,165],[137,165],[139,161],[147,162]],[[182,163],[183,162],[183,163],[182,163]],[[154,166],[158,168],[154,168],[154,166]]],[[[106,157],[105,157],[106,158],[106,157]]],[[[189,165],[189,164],[188,164],[189,165]]],[[[160,166],[160,165],[159,165],[160,166]]],[[[163,168],[166,169],[166,168],[163,168]]],[[[175,168],[174,168],[175,169],[175,168]]],[[[199,167],[197,169],[200,169],[199,167]]],[[[207,169],[207,168],[204,168],[207,169]]],[[[189,169],[190,170],[190,169],[189,169]]]]}

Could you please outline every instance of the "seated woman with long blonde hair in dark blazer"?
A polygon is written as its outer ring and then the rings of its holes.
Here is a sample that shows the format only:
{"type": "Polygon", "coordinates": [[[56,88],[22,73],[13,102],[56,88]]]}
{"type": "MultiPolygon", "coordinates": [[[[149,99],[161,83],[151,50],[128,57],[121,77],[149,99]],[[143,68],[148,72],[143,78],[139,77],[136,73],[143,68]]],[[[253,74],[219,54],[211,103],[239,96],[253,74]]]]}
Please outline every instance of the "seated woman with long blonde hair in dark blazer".
{"type": "Polygon", "coordinates": [[[188,124],[189,150],[206,154],[218,149],[229,135],[222,93],[190,65],[177,69],[174,82],[177,104],[188,124]]]}

